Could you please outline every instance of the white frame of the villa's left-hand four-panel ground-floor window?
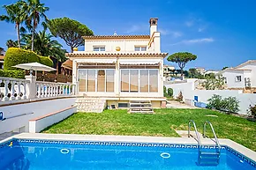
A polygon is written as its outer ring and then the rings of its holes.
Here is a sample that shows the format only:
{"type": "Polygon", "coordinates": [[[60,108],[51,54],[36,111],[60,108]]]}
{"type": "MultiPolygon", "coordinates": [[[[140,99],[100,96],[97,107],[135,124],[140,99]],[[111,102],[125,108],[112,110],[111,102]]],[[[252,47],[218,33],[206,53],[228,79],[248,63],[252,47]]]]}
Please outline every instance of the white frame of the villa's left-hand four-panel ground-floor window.
{"type": "MultiPolygon", "coordinates": [[[[114,70],[114,91],[113,92],[115,92],[115,88],[116,88],[115,87],[115,81],[116,81],[116,70],[115,69],[78,69],[78,73],[79,73],[79,70],[87,70],[87,81],[88,81],[88,70],[95,70],[95,92],[98,92],[98,71],[105,70],[105,91],[104,92],[107,92],[107,82],[106,82],[107,75],[106,75],[106,73],[107,73],[107,70],[114,70]]],[[[77,82],[79,85],[79,76],[78,76],[77,82]]],[[[86,83],[86,91],[84,91],[84,92],[87,92],[87,83],[86,83]]],[[[111,92],[108,92],[108,93],[111,93],[111,92]]]]}

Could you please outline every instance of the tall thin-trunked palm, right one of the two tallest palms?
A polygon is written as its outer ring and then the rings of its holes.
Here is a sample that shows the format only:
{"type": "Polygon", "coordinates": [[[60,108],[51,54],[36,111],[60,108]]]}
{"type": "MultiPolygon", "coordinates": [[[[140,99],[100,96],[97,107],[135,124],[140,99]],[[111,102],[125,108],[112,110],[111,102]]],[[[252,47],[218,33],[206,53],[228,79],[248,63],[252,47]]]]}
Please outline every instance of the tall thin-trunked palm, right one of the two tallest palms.
{"type": "Polygon", "coordinates": [[[44,4],[41,4],[40,0],[27,0],[23,5],[23,9],[28,15],[26,19],[26,26],[32,29],[31,50],[34,51],[35,29],[40,23],[41,18],[48,20],[44,12],[49,11],[49,7],[45,7],[44,4]]]}

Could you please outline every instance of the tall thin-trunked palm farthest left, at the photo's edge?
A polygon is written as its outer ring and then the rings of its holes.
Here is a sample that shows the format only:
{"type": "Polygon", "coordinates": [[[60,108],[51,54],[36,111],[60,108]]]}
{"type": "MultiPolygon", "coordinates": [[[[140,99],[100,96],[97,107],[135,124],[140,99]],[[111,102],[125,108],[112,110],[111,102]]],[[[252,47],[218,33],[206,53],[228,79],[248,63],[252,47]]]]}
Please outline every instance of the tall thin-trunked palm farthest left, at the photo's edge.
{"type": "Polygon", "coordinates": [[[0,20],[15,24],[18,36],[18,47],[20,48],[20,31],[25,31],[25,28],[20,27],[20,25],[26,20],[25,12],[20,10],[21,1],[16,4],[4,5],[4,9],[6,10],[7,15],[0,16],[0,20]]]}

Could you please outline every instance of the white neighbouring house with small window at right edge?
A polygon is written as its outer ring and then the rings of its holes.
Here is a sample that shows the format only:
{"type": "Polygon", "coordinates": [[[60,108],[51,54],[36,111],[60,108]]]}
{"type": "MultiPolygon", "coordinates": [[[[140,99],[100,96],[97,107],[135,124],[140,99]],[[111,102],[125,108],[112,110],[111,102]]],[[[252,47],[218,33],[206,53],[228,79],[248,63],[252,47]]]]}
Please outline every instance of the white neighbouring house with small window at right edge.
{"type": "Polygon", "coordinates": [[[230,90],[256,93],[256,60],[249,60],[234,68],[221,71],[230,90]]]}

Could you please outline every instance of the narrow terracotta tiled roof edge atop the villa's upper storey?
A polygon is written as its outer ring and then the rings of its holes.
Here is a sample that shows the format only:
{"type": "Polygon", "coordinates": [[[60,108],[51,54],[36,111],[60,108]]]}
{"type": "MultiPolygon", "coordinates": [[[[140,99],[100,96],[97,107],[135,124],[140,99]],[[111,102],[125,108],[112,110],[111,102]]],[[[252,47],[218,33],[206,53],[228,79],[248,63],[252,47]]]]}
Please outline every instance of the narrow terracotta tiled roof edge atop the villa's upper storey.
{"type": "Polygon", "coordinates": [[[150,39],[150,35],[94,35],[83,36],[84,40],[99,40],[99,39],[150,39]]]}

